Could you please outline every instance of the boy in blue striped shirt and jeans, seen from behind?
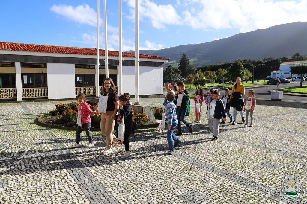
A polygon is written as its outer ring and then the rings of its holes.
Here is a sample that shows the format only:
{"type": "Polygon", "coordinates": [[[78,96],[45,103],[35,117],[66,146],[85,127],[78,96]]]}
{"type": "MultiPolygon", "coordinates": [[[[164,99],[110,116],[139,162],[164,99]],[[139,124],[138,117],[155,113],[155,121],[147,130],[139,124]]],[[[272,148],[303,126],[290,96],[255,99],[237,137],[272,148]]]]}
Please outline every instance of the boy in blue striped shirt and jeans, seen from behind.
{"type": "Polygon", "coordinates": [[[169,152],[168,154],[175,153],[175,147],[181,144],[181,141],[174,134],[174,129],[178,124],[177,114],[176,114],[176,105],[173,103],[175,99],[175,94],[169,92],[166,94],[166,119],[167,119],[167,134],[166,139],[169,142],[169,152]],[[175,141],[175,143],[173,142],[175,141]]]}

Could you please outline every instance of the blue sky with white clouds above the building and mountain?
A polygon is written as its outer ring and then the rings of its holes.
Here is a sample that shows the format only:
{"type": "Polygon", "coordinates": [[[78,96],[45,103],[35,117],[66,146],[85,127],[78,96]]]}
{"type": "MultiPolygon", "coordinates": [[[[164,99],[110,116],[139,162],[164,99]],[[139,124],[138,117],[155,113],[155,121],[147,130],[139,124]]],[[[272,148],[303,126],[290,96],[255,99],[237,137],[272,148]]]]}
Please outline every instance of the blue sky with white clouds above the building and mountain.
{"type": "MultiPolygon", "coordinates": [[[[122,0],[123,51],[134,50],[134,0],[122,0]]],[[[0,41],[96,47],[97,1],[1,1],[0,41]]],[[[307,21],[307,0],[139,0],[139,49],[205,43],[307,21]]],[[[103,0],[100,48],[104,49],[103,0]]],[[[118,0],[107,0],[108,50],[118,50],[118,0]]]]}

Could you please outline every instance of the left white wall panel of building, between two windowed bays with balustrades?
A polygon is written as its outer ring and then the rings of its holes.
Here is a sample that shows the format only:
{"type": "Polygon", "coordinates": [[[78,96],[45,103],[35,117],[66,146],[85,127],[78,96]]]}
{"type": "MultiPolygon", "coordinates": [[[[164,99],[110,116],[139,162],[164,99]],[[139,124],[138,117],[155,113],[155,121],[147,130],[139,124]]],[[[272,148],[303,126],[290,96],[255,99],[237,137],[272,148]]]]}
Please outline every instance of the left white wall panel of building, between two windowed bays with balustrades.
{"type": "Polygon", "coordinates": [[[75,98],[75,65],[47,63],[49,99],[75,98]]]}

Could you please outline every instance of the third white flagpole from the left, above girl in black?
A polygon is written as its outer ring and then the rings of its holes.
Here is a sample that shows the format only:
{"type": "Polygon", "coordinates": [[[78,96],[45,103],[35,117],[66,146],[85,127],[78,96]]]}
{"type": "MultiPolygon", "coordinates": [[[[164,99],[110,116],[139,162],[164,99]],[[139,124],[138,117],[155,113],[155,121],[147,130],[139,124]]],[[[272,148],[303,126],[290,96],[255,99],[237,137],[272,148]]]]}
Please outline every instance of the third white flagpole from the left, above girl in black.
{"type": "Polygon", "coordinates": [[[118,1],[119,3],[119,32],[118,32],[118,61],[119,61],[119,83],[118,83],[118,93],[124,93],[122,90],[122,0],[118,1]]]}

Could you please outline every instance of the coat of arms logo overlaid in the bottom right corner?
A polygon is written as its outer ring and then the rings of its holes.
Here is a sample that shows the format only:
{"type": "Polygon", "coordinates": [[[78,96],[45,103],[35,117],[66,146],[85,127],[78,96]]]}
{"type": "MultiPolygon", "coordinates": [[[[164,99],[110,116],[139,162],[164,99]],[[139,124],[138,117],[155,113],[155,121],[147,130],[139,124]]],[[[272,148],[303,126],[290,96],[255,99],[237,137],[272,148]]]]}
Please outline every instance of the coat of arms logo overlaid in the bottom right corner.
{"type": "Polygon", "coordinates": [[[301,199],[305,188],[300,183],[301,178],[286,176],[282,186],[278,188],[282,198],[287,202],[296,202],[301,199]]]}

